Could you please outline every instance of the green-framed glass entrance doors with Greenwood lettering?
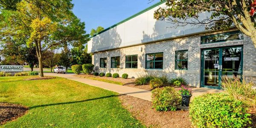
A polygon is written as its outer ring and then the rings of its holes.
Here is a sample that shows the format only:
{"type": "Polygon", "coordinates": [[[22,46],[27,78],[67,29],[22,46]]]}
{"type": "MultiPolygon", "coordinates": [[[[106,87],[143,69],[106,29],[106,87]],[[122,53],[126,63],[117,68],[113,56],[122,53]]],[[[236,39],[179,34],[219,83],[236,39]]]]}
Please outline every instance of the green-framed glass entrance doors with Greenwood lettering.
{"type": "Polygon", "coordinates": [[[201,60],[201,87],[221,89],[221,77],[240,77],[242,47],[203,49],[201,60]]]}

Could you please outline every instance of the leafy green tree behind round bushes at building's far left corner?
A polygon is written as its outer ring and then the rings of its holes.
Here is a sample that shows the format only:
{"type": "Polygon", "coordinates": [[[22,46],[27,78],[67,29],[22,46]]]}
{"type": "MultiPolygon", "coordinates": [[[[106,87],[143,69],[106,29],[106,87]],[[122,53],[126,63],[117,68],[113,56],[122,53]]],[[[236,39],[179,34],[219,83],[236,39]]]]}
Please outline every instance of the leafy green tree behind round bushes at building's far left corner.
{"type": "MultiPolygon", "coordinates": [[[[86,45],[87,46],[87,45],[86,45]]],[[[71,49],[72,64],[88,64],[91,63],[92,58],[87,53],[87,47],[73,47],[71,49]]]]}

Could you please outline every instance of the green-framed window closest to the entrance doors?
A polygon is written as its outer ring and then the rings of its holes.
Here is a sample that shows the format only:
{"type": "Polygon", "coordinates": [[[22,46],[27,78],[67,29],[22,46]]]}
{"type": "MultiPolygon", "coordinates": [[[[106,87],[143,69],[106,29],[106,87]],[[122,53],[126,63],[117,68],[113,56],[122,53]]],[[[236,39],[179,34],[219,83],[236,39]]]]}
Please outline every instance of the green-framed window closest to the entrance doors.
{"type": "Polygon", "coordinates": [[[188,70],[188,50],[175,52],[175,70],[188,70]]]}

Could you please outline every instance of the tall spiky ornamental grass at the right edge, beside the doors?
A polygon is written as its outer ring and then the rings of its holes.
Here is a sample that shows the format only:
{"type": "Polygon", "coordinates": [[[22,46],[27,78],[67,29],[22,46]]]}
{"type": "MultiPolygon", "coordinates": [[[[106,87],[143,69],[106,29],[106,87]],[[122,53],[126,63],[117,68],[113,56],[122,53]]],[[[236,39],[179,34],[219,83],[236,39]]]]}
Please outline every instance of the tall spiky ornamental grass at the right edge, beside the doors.
{"type": "Polygon", "coordinates": [[[253,81],[248,81],[247,79],[242,79],[234,77],[233,79],[228,78],[227,76],[222,78],[222,88],[230,96],[233,96],[235,99],[246,102],[249,105],[256,107],[256,89],[253,89],[255,85],[253,81]]]}

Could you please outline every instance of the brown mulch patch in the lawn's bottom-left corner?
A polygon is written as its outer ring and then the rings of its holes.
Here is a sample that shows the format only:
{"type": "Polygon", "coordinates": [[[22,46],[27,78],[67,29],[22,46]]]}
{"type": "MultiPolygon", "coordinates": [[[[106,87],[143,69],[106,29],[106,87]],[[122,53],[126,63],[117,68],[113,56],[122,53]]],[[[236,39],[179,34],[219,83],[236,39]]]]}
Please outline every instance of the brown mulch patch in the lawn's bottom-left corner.
{"type": "Polygon", "coordinates": [[[0,125],[23,116],[27,111],[25,106],[0,102],[0,125]]]}

